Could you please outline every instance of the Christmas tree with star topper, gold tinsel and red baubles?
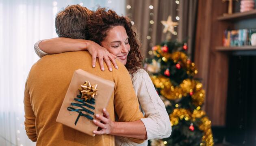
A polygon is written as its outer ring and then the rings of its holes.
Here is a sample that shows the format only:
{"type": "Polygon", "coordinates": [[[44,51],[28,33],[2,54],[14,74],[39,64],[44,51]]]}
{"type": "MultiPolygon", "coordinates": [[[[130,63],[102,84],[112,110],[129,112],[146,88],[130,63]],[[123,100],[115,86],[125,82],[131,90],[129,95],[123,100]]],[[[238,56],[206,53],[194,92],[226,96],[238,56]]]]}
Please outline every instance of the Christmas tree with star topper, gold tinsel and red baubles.
{"type": "Polygon", "coordinates": [[[146,59],[145,67],[165,103],[172,133],[163,140],[151,140],[151,146],[213,146],[211,121],[202,110],[205,91],[194,78],[197,69],[187,56],[187,44],[171,41],[178,23],[170,16],[161,23],[167,39],[152,47],[153,58],[146,59]]]}

